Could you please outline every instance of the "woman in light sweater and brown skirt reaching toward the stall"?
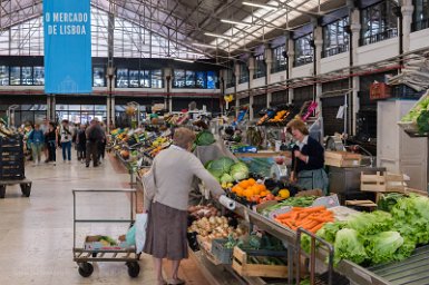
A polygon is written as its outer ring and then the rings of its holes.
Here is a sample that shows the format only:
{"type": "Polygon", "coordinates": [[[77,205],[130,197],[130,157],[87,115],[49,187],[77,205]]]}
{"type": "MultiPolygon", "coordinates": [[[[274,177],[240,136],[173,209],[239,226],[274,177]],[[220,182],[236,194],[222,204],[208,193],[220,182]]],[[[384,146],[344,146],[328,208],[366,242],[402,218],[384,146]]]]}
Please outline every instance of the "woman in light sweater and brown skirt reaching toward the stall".
{"type": "Polygon", "coordinates": [[[148,225],[144,252],[154,257],[157,284],[167,284],[163,278],[163,258],[173,263],[168,284],[184,284],[178,278],[181,261],[188,257],[186,230],[187,208],[193,177],[202,179],[215,198],[224,191],[216,179],[192,153],[195,134],[186,128],[174,132],[173,146],[154,159],[155,193],[145,193],[145,210],[148,225]]]}

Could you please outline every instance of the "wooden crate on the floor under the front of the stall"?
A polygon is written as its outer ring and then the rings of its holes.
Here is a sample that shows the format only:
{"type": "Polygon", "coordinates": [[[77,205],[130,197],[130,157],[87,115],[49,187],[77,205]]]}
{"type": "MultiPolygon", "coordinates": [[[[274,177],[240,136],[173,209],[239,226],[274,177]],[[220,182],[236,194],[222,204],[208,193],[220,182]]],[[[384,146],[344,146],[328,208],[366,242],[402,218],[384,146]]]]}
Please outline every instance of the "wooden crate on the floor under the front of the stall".
{"type": "Polygon", "coordinates": [[[241,276],[247,277],[287,277],[287,266],[250,264],[247,263],[247,254],[237,246],[234,247],[233,252],[233,269],[241,276]]]}

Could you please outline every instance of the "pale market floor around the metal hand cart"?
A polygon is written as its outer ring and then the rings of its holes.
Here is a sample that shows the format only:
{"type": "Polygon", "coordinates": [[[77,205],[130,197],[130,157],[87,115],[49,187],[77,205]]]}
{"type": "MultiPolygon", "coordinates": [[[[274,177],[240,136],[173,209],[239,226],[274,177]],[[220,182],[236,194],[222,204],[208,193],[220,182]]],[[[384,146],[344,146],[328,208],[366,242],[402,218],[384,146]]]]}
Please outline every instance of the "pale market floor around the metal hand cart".
{"type": "MultiPolygon", "coordinates": [[[[56,167],[30,165],[27,177],[33,180],[30,198],[21,197],[19,186],[9,186],[6,199],[0,200],[0,284],[155,284],[148,256],[142,257],[142,272],[136,279],[129,278],[126,266],[119,263],[99,264],[91,277],[82,278],[72,262],[71,189],[120,188],[129,180],[127,174],[115,170],[108,159],[99,168],[86,168],[72,160],[60,161],[56,167]]],[[[90,199],[98,202],[92,209],[88,200],[81,204],[89,206],[87,214],[103,208],[108,214],[126,215],[123,213],[128,206],[127,197],[119,195],[92,196],[90,199]]],[[[97,227],[80,232],[94,234],[97,227]]]]}

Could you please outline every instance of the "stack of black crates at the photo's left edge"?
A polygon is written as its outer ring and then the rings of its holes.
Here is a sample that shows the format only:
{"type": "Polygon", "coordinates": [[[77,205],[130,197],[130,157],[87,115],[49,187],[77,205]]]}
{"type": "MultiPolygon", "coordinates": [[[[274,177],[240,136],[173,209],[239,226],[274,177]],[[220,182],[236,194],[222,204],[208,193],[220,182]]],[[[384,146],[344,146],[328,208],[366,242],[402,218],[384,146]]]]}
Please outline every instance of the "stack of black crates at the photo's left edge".
{"type": "Polygon", "coordinates": [[[0,180],[21,180],[25,178],[22,137],[0,137],[0,180]]]}

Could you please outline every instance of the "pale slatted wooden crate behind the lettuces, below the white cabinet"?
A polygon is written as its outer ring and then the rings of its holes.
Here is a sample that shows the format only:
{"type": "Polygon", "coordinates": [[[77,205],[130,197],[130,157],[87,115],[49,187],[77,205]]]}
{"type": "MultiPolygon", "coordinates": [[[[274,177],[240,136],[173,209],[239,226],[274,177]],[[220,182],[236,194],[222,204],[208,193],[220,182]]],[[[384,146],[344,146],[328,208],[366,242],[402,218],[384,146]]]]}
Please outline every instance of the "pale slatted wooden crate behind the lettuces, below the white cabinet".
{"type": "Polygon", "coordinates": [[[362,191],[397,191],[406,193],[406,183],[403,176],[399,174],[364,174],[361,173],[361,190],[362,191]]]}

